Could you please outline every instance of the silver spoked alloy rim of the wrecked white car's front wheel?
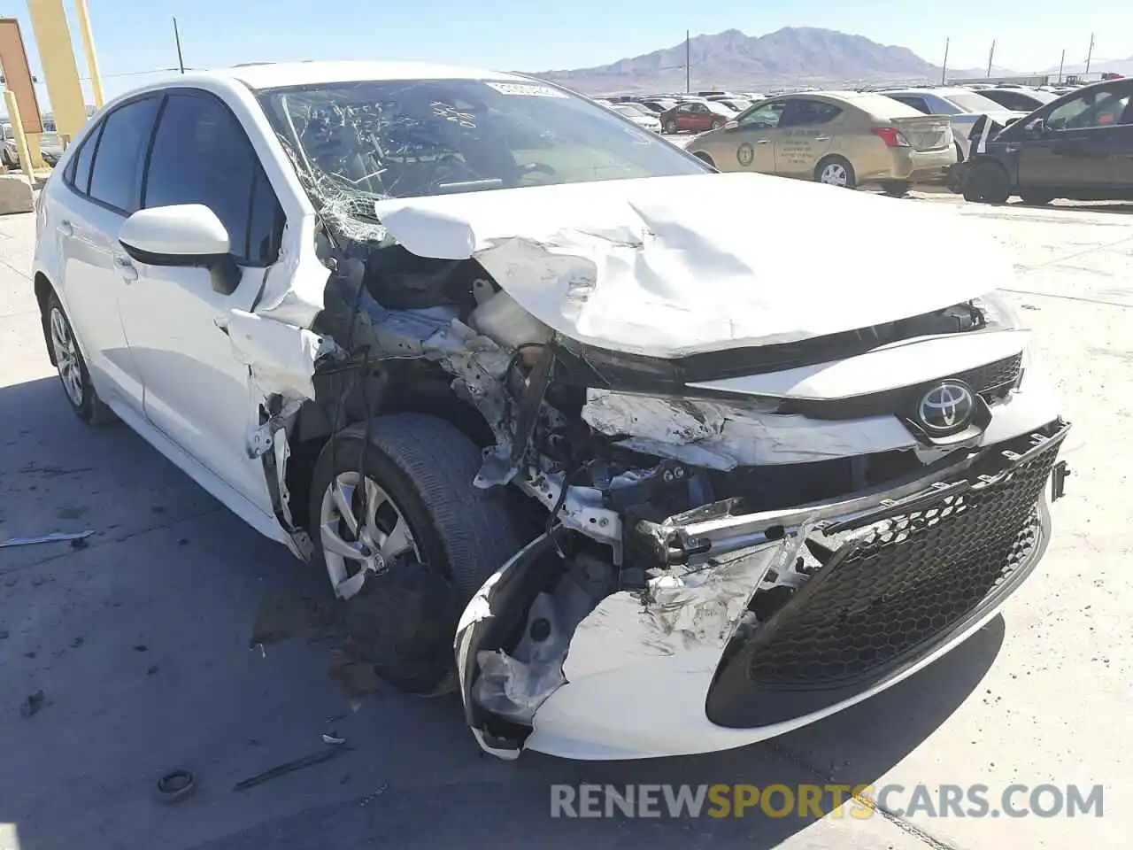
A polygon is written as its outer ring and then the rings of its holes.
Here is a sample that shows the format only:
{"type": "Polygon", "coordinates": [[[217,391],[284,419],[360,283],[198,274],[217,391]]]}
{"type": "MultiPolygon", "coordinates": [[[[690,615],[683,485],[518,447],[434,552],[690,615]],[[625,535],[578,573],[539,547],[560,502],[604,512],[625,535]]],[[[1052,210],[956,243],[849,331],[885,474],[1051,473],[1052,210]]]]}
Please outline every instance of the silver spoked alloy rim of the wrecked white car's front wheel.
{"type": "Polygon", "coordinates": [[[344,600],[361,589],[367,572],[382,572],[399,555],[420,551],[409,524],[372,478],[340,473],[323,493],[320,541],[334,592],[344,600]]]}

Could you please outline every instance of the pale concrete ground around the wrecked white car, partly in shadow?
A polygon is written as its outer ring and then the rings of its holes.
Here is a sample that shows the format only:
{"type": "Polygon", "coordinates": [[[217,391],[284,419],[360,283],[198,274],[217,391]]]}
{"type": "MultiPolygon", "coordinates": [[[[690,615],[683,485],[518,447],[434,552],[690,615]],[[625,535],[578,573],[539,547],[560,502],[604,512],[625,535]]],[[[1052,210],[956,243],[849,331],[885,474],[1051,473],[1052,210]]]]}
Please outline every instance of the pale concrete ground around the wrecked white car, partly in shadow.
{"type": "MultiPolygon", "coordinates": [[[[27,275],[33,219],[0,220],[0,537],[95,532],[85,549],[0,549],[0,850],[1128,847],[1133,216],[892,203],[974,216],[1015,252],[1014,298],[1075,424],[1046,561],[1000,618],[854,709],[766,745],[615,764],[482,758],[453,699],[378,692],[351,711],[325,646],[249,649],[265,594],[320,588],[320,577],[126,427],[70,414],[27,275]],[[39,690],[41,709],[23,716],[39,690]],[[330,730],[352,749],[232,791],[323,748],[330,730]],[[194,771],[198,790],[160,805],[154,780],[174,767],[194,771]],[[548,785],[583,781],[982,783],[993,807],[1012,783],[1100,783],[1105,814],[552,819],[548,785]]],[[[979,274],[931,233],[923,247],[923,267],[889,273],[910,286],[979,274]]],[[[647,723],[649,706],[638,711],[647,723]]]]}

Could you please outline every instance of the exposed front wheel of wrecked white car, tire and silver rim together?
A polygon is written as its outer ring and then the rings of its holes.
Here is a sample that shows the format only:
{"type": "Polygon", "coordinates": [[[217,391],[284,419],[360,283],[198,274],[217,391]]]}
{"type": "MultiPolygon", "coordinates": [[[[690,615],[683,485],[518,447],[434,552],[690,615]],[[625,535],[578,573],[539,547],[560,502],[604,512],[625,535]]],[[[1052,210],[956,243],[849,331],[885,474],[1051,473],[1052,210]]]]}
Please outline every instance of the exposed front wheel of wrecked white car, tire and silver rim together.
{"type": "Polygon", "coordinates": [[[390,683],[436,692],[467,602],[522,546],[482,454],[453,425],[395,414],[339,432],[315,462],[308,516],[358,655],[390,683]]]}

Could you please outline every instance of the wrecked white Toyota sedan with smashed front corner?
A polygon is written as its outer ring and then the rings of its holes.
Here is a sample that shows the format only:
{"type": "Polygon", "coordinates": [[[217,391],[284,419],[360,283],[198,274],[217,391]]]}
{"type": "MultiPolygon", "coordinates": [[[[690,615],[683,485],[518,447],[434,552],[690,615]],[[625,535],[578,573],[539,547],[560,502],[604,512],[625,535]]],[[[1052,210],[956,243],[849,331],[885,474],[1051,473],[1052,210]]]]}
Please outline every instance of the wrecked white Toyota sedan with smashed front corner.
{"type": "Polygon", "coordinates": [[[631,758],[858,703],[1039,561],[1068,426],[966,227],[522,76],[259,65],[95,114],[34,279],[75,411],[392,602],[382,675],[631,758]]]}

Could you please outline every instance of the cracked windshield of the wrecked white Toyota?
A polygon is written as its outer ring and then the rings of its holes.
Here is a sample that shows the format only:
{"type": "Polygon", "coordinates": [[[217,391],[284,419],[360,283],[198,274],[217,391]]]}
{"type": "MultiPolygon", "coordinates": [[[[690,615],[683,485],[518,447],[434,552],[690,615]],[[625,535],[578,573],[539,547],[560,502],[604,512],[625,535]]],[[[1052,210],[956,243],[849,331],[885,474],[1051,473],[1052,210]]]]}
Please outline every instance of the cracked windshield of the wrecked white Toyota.
{"type": "Polygon", "coordinates": [[[534,82],[365,80],[259,99],[324,195],[415,197],[705,170],[610,109],[534,82]]]}

